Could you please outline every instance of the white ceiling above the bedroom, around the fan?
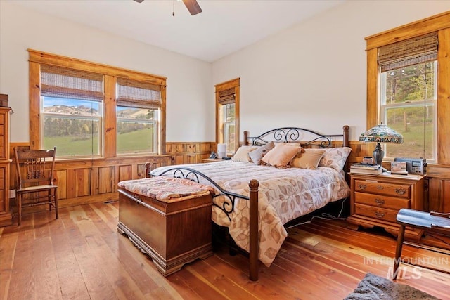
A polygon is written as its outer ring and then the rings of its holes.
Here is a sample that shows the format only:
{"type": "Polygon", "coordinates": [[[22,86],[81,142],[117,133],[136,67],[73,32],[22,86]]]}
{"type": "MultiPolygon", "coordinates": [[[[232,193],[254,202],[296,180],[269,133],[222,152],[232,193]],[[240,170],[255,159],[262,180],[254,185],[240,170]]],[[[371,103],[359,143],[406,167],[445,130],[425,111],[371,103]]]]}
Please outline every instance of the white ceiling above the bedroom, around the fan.
{"type": "Polygon", "coordinates": [[[13,2],[213,62],[343,1],[198,0],[203,9],[198,15],[191,15],[183,2],[172,0],[144,0],[142,3],[133,0],[13,2]]]}

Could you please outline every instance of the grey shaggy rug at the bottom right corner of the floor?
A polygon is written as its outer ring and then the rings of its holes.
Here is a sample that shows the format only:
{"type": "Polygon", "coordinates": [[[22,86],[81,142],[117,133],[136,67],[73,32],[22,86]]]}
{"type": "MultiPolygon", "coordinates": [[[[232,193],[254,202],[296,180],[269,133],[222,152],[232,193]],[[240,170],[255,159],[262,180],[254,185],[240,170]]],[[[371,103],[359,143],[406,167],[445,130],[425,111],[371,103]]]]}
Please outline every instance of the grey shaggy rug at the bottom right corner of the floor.
{"type": "Polygon", "coordinates": [[[409,285],[392,282],[389,279],[367,273],[352,294],[345,300],[412,300],[439,299],[409,285]]]}

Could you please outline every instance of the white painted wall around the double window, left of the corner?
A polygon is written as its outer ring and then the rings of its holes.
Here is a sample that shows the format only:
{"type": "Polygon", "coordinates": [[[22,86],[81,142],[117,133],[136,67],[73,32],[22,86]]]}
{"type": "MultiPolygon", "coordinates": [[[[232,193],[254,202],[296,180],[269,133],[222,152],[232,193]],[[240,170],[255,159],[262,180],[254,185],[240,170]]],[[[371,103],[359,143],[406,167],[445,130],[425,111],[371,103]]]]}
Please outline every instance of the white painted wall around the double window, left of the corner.
{"type": "Polygon", "coordinates": [[[14,111],[11,142],[30,141],[27,48],[167,77],[167,141],[215,140],[211,63],[0,1],[0,93],[14,111]]]}

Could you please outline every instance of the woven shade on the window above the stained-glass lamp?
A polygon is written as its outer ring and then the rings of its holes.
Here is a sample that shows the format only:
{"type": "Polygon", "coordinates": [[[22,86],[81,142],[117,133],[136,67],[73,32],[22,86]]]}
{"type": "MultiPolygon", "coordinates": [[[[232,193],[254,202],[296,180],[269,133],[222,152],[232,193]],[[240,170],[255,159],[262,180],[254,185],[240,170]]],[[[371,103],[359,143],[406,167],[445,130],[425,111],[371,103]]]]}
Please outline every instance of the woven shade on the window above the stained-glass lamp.
{"type": "Polygon", "coordinates": [[[378,48],[381,72],[437,59],[437,32],[378,48]]]}

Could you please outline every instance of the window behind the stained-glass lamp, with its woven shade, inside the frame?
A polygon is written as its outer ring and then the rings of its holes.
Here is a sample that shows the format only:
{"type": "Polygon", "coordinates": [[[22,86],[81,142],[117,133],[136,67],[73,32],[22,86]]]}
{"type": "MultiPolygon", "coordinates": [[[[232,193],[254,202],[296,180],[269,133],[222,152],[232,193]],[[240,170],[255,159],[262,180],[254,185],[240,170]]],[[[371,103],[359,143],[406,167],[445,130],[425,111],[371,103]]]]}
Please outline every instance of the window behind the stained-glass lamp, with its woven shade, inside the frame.
{"type": "Polygon", "coordinates": [[[437,33],[380,47],[378,64],[380,120],[405,141],[385,144],[385,157],[436,162],[437,33]]]}

